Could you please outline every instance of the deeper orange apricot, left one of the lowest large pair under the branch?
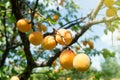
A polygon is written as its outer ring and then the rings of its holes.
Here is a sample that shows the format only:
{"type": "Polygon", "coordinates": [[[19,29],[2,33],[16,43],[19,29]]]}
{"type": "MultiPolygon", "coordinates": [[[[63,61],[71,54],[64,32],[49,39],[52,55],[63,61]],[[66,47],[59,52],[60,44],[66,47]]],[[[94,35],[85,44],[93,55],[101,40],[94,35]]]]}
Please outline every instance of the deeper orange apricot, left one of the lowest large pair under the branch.
{"type": "Polygon", "coordinates": [[[60,54],[59,60],[60,65],[64,69],[71,69],[73,67],[73,59],[75,57],[75,53],[72,50],[64,50],[60,54]]]}

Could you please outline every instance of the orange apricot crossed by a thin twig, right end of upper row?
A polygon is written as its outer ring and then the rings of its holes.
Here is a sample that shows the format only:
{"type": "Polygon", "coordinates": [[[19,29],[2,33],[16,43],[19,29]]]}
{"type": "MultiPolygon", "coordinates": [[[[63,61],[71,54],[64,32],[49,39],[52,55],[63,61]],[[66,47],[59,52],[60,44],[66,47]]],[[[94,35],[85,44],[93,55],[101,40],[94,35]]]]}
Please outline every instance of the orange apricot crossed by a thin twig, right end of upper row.
{"type": "Polygon", "coordinates": [[[72,42],[72,34],[66,29],[59,29],[55,38],[61,45],[69,45],[72,42]]]}

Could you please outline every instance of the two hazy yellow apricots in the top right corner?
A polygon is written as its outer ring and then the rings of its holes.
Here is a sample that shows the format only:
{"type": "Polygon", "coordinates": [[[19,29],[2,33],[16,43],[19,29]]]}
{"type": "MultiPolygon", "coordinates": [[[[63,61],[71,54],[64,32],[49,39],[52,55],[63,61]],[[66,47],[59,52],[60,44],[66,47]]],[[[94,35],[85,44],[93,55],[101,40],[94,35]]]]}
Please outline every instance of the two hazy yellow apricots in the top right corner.
{"type": "Polygon", "coordinates": [[[113,6],[114,0],[104,0],[104,5],[107,7],[106,10],[107,17],[117,16],[117,9],[113,6]]]}

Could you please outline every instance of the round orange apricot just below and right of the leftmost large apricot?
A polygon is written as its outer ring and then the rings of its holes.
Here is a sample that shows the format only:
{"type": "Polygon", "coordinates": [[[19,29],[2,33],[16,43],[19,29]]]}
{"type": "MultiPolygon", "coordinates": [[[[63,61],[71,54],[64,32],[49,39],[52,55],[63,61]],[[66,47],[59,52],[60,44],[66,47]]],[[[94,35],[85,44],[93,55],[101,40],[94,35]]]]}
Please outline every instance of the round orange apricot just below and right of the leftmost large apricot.
{"type": "Polygon", "coordinates": [[[29,41],[30,41],[30,43],[32,43],[35,46],[40,45],[43,41],[42,33],[38,32],[38,31],[32,32],[29,35],[29,41]]]}

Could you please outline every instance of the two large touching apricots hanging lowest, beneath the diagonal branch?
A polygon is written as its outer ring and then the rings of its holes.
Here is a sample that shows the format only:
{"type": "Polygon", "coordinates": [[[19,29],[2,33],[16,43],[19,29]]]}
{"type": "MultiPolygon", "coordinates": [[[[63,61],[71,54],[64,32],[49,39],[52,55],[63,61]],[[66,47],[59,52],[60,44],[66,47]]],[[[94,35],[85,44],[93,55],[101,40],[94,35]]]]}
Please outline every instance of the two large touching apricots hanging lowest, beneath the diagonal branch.
{"type": "Polygon", "coordinates": [[[75,54],[71,49],[65,49],[61,52],[60,65],[64,69],[75,68],[78,71],[84,72],[89,69],[90,58],[85,53],[75,54]]]}

